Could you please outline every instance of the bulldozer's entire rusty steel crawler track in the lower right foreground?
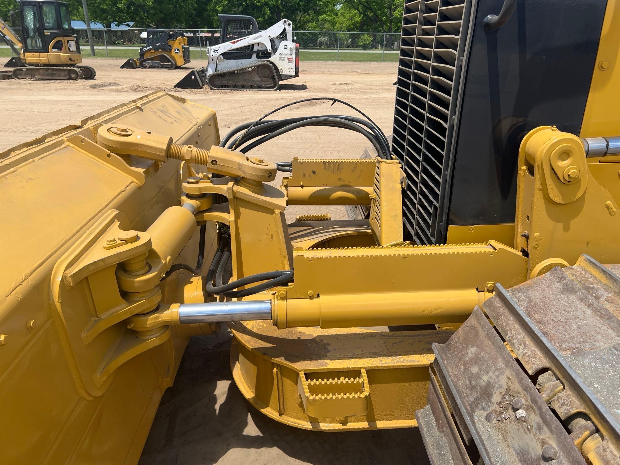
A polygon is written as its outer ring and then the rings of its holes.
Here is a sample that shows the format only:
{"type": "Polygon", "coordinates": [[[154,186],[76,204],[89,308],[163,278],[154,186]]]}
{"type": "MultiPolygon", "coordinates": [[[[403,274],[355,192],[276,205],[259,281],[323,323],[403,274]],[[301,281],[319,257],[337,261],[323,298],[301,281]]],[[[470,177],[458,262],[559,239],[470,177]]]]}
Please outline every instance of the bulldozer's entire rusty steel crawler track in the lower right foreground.
{"type": "Polygon", "coordinates": [[[582,255],[483,308],[433,344],[431,463],[620,463],[620,265],[582,255]]]}

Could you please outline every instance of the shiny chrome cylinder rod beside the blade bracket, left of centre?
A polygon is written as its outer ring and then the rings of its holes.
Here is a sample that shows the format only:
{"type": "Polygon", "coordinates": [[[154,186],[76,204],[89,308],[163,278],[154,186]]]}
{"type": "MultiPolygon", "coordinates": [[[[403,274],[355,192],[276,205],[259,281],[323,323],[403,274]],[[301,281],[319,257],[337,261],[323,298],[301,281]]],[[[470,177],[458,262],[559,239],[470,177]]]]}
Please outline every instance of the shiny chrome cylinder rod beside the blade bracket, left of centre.
{"type": "Polygon", "coordinates": [[[206,302],[203,304],[179,305],[180,324],[270,319],[272,319],[270,300],[206,302]]]}

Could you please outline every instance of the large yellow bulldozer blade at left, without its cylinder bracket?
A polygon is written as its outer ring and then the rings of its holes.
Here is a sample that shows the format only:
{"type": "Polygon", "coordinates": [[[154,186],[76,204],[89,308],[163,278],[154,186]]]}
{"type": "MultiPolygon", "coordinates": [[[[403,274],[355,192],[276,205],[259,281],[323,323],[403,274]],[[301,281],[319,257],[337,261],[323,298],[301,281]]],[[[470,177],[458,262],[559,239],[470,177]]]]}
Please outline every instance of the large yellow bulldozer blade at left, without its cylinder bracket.
{"type": "MultiPolygon", "coordinates": [[[[51,289],[69,282],[64,275],[52,281],[57,262],[97,224],[121,215],[126,227],[145,231],[166,208],[179,205],[187,167],[104,151],[94,143],[95,128],[112,121],[158,130],[179,143],[219,142],[212,110],[156,92],[0,154],[0,404],[6,425],[0,450],[7,463],[136,463],[187,343],[188,336],[173,328],[166,342],[97,381],[84,363],[105,359],[102,351],[110,347],[100,338],[108,333],[89,342],[75,329],[86,327],[89,308],[108,303],[112,294],[95,293],[95,277],[92,300],[82,280],[73,297],[53,301],[51,289]]],[[[194,262],[197,245],[195,234],[179,260],[194,262]]],[[[178,299],[179,292],[182,284],[164,298],[178,299]]],[[[125,326],[109,330],[120,334],[125,326]]]]}

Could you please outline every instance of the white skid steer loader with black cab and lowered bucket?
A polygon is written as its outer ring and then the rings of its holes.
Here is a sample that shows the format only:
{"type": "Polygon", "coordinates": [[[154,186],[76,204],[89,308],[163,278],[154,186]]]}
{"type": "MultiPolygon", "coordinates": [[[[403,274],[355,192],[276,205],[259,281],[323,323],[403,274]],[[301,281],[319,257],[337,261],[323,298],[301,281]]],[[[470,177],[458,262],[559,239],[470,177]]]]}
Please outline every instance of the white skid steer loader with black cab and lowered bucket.
{"type": "Polygon", "coordinates": [[[280,81],[299,76],[299,44],[290,20],[259,31],[251,16],[218,17],[222,29],[219,43],[206,50],[208,66],[190,71],[174,87],[276,91],[280,81]]]}

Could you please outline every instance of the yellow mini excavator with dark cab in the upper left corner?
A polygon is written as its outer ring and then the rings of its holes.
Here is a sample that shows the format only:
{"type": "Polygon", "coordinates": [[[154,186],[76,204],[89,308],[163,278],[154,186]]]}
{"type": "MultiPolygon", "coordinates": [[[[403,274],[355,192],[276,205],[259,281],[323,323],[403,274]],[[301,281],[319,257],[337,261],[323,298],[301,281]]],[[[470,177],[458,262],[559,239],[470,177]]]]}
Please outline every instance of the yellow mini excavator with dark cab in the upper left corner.
{"type": "Polygon", "coordinates": [[[95,70],[82,66],[79,42],[71,27],[69,5],[57,0],[19,2],[23,40],[0,18],[0,38],[15,56],[0,71],[0,79],[94,79],[95,70]]]}

